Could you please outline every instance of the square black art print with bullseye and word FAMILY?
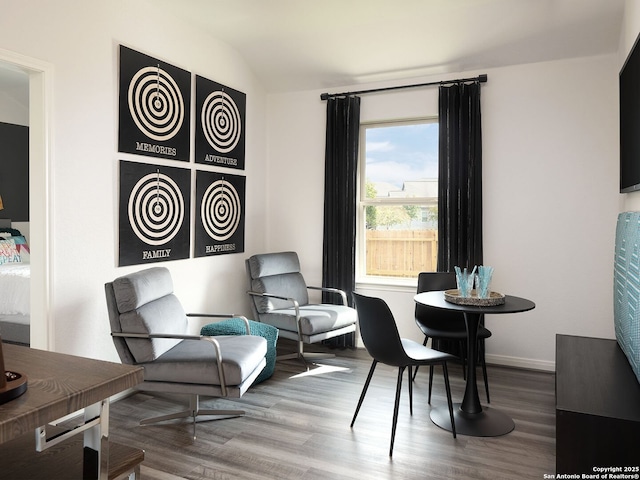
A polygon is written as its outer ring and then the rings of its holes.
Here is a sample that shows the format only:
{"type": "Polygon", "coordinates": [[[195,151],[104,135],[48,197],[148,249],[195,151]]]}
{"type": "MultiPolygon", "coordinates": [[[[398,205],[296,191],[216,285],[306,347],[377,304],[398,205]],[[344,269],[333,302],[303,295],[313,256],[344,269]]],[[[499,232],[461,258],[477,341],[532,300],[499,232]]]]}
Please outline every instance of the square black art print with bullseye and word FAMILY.
{"type": "Polygon", "coordinates": [[[118,265],[189,258],[191,170],[120,161],[118,265]]]}

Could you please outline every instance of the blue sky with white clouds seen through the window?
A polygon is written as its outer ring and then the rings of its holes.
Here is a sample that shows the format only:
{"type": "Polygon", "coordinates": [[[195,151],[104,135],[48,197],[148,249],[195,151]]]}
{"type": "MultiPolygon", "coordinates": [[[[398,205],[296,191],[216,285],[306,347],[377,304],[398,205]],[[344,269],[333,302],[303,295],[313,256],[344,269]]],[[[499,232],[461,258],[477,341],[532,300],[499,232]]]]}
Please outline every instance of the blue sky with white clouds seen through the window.
{"type": "Polygon", "coordinates": [[[438,178],[438,123],[368,128],[366,176],[398,190],[406,180],[438,178]]]}

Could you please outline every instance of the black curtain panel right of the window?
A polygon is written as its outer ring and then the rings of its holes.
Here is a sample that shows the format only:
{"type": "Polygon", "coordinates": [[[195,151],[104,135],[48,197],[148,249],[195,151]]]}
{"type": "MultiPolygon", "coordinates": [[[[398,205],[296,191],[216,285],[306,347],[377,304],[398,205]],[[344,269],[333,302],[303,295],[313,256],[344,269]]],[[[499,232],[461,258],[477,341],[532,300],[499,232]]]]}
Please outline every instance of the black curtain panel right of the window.
{"type": "Polygon", "coordinates": [[[480,84],[440,87],[438,271],[482,264],[480,84]]]}

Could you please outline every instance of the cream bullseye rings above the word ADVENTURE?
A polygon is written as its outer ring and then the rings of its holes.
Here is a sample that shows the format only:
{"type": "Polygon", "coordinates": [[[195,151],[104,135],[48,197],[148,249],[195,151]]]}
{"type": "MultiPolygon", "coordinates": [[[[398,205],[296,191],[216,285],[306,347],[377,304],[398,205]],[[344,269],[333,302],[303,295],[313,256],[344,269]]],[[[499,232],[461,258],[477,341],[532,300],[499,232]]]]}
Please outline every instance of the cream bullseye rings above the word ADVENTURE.
{"type": "Polygon", "coordinates": [[[202,105],[202,130],[213,148],[229,153],[238,145],[242,118],[238,106],[225,92],[213,92],[202,105]]]}

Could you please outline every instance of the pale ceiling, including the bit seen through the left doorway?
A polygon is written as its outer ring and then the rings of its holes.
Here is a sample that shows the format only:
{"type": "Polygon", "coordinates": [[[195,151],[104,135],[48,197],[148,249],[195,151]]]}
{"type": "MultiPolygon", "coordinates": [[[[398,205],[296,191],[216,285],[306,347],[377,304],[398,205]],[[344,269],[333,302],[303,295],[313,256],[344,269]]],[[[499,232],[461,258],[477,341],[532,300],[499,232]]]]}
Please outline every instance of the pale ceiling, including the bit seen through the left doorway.
{"type": "MultiPolygon", "coordinates": [[[[236,49],[269,93],[616,52],[625,0],[148,0],[236,49]]],[[[0,64],[0,92],[27,96],[0,64]]],[[[18,100],[21,101],[21,100],[18,100]]]]}

